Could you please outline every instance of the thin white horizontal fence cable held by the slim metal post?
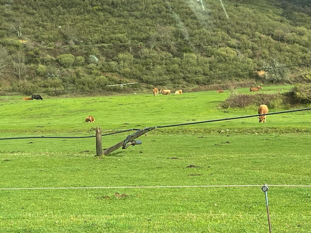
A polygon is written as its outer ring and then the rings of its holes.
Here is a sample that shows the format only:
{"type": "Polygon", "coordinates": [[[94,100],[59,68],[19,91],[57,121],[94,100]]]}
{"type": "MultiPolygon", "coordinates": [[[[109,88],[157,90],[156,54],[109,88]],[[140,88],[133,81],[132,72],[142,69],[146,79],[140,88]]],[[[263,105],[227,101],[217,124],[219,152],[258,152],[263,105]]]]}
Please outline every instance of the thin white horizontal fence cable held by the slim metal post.
{"type": "MultiPolygon", "coordinates": [[[[39,190],[39,189],[142,189],[142,188],[226,188],[259,187],[263,185],[167,185],[167,186],[110,186],[110,187],[42,187],[42,188],[0,188],[0,190],[39,190]]],[[[268,187],[311,187],[311,185],[268,185],[268,187]]]]}

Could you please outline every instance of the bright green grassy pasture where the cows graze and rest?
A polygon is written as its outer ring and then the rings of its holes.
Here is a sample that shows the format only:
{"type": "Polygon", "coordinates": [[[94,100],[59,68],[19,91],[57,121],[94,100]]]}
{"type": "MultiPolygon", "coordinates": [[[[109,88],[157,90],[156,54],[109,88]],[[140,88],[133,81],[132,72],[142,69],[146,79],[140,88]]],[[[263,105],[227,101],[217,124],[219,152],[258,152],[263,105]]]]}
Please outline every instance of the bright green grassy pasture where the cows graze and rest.
{"type": "MultiPolygon", "coordinates": [[[[7,97],[0,99],[0,137],[93,135],[95,126],[144,128],[257,113],[258,106],[219,108],[228,95],[7,97]],[[84,122],[88,115],[95,123],[84,122]]],[[[246,118],[157,129],[140,138],[142,145],[102,159],[94,157],[94,138],[0,140],[0,188],[310,185],[310,117],[297,112],[267,116],[264,124],[246,118]]],[[[103,147],[126,136],[103,137],[103,147]]],[[[311,188],[271,187],[268,197],[273,232],[311,231],[311,188]]],[[[0,190],[0,232],[250,233],[268,232],[268,225],[260,187],[0,190]]]]}

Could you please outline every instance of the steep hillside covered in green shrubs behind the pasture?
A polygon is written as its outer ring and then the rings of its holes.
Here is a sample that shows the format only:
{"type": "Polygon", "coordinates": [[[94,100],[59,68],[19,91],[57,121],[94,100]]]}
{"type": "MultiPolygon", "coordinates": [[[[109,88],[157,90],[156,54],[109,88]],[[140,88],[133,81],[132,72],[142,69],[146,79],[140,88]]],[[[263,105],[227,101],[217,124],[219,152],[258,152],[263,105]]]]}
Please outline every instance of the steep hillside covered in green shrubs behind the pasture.
{"type": "MultiPolygon", "coordinates": [[[[98,86],[100,92],[107,90],[101,85],[120,82],[311,62],[308,1],[202,3],[0,0],[0,89],[98,86]]],[[[309,70],[294,67],[289,74],[309,80],[309,70]]],[[[250,72],[152,85],[177,88],[252,79],[263,82],[250,72]]]]}

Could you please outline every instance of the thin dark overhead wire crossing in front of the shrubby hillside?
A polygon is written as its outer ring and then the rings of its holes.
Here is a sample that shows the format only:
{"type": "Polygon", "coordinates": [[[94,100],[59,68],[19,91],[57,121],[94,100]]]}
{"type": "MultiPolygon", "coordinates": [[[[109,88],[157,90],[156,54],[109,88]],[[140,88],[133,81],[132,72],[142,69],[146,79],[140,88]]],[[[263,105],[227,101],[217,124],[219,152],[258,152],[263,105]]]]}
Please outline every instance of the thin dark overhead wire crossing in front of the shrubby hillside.
{"type": "MultiPolygon", "coordinates": [[[[60,89],[60,90],[53,90],[53,91],[37,91],[33,92],[32,94],[37,93],[49,93],[49,92],[57,92],[57,91],[72,91],[72,90],[82,90],[82,89],[94,89],[99,87],[111,87],[111,86],[120,86],[123,87],[124,85],[133,85],[133,84],[147,84],[147,83],[154,83],[154,82],[161,82],[161,81],[169,81],[169,80],[179,80],[179,79],[191,79],[191,78],[198,78],[198,77],[209,77],[209,76],[216,76],[216,75],[228,75],[228,74],[237,74],[237,73],[244,73],[244,72],[251,72],[251,71],[259,71],[259,70],[272,70],[272,69],[279,69],[279,68],[288,68],[294,66],[308,66],[311,63],[304,63],[304,64],[295,64],[295,65],[288,65],[288,66],[276,66],[276,67],[269,67],[269,68],[258,68],[252,70],[243,70],[243,71],[231,71],[231,72],[224,72],[224,73],[216,73],[216,74],[207,74],[207,75],[196,75],[196,76],[189,76],[189,77],[179,77],[179,78],[170,78],[170,79],[161,79],[161,80],[151,80],[151,81],[143,81],[143,82],[133,82],[133,83],[122,83],[122,84],[111,84],[111,85],[104,85],[104,86],[95,86],[95,87],[81,87],[81,88],[73,88],[73,89],[60,89]]],[[[0,96],[14,96],[14,95],[21,95],[21,94],[29,94],[29,93],[16,93],[16,94],[6,94],[0,96]]]]}

